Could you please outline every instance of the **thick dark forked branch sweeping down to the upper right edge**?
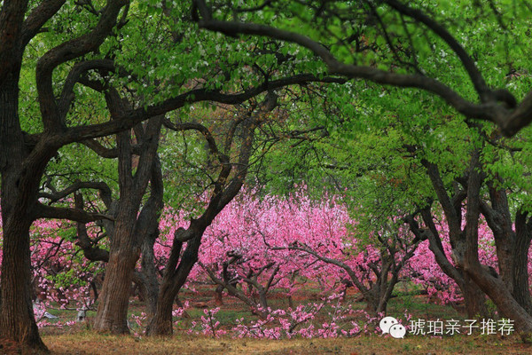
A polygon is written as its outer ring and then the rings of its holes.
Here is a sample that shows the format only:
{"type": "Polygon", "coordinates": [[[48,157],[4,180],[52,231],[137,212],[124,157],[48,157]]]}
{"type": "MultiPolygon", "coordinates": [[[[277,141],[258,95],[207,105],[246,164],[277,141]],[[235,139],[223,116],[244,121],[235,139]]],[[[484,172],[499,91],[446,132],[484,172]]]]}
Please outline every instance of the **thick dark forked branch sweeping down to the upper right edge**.
{"type": "Polygon", "coordinates": [[[390,3],[390,5],[393,4],[400,8],[405,15],[416,18],[419,21],[425,21],[426,23],[424,23],[427,27],[431,28],[436,35],[441,36],[442,39],[450,45],[451,49],[457,53],[458,59],[462,61],[466,71],[472,78],[473,85],[481,96],[481,104],[474,104],[467,99],[464,99],[458,94],[458,92],[453,91],[449,86],[436,79],[424,75],[395,74],[380,70],[376,67],[344,64],[334,58],[331,51],[325,48],[324,45],[312,40],[308,36],[266,25],[214,20],[204,0],[195,0],[194,4],[201,15],[201,18],[198,19],[200,28],[221,32],[228,36],[268,36],[281,41],[300,44],[302,47],[309,49],[322,59],[328,68],[328,73],[331,75],[344,75],[350,79],[365,79],[374,83],[404,88],[417,88],[434,93],[444,99],[450,106],[454,107],[460,114],[464,114],[467,118],[496,123],[507,136],[512,136],[521,128],[528,125],[528,123],[532,122],[532,91],[525,99],[523,99],[521,105],[518,106],[515,111],[512,111],[512,108],[516,106],[512,94],[505,90],[489,91],[489,88],[484,82],[481,74],[478,72],[478,69],[475,67],[474,62],[472,62],[472,59],[467,55],[456,39],[450,36],[445,28],[442,28],[442,26],[434,20],[426,18],[422,12],[411,10],[410,8],[392,0],[388,0],[387,2],[390,3]],[[498,101],[503,101],[505,105],[501,105],[498,101]]]}

